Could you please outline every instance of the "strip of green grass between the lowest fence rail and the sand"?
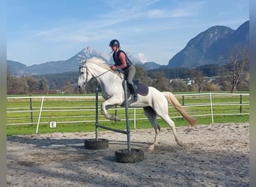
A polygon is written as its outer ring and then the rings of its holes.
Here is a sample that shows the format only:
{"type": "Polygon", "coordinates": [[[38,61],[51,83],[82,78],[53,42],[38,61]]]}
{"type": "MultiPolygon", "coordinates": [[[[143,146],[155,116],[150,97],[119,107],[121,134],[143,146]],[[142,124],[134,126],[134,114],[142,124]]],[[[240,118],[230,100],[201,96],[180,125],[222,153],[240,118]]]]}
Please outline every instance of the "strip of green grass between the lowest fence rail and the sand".
{"type": "MultiPolygon", "coordinates": [[[[175,118],[174,123],[176,126],[188,126],[188,123],[183,118],[175,118]]],[[[210,117],[198,117],[198,124],[210,124],[210,117]]],[[[169,127],[165,121],[162,119],[158,120],[159,126],[161,127],[169,127]]],[[[237,115],[237,116],[217,116],[214,117],[214,123],[248,123],[249,115],[237,115]]],[[[41,124],[38,128],[38,133],[51,133],[51,132],[94,132],[95,131],[95,122],[91,123],[77,123],[77,124],[58,124],[55,128],[50,128],[49,124],[41,124]]],[[[100,125],[108,126],[115,129],[126,129],[125,120],[121,120],[117,123],[109,121],[100,123],[100,125]]],[[[148,129],[152,128],[149,120],[137,120],[136,121],[136,129],[148,129]]],[[[35,134],[37,129],[37,125],[22,125],[22,126],[7,126],[7,135],[27,135],[27,134],[35,134]]],[[[133,120],[129,120],[129,129],[134,129],[133,120]]],[[[105,129],[100,129],[100,131],[105,131],[105,129]]]]}

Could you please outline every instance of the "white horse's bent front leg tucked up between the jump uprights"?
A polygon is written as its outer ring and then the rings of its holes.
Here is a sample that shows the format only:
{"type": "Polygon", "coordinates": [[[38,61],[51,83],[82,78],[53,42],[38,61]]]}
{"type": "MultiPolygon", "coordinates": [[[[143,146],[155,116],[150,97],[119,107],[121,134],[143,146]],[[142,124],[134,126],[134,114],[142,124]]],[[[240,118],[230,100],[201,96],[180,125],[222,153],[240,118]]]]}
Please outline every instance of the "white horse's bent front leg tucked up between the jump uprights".
{"type": "Polygon", "coordinates": [[[105,102],[101,104],[101,114],[103,114],[106,117],[106,119],[109,119],[109,120],[121,120],[120,117],[111,115],[108,112],[108,109],[113,108],[114,105],[116,104],[118,104],[118,99],[115,99],[115,98],[107,99],[105,102]]]}

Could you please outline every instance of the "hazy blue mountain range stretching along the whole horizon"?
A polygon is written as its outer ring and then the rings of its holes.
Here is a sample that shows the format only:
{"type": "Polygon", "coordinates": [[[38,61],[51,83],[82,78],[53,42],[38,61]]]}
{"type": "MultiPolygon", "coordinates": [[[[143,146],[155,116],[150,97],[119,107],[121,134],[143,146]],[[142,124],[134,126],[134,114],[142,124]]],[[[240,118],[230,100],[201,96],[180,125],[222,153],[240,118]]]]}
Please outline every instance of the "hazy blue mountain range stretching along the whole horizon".
{"type": "MultiPolygon", "coordinates": [[[[228,64],[228,53],[237,44],[249,45],[249,21],[244,22],[237,30],[216,25],[202,31],[189,40],[185,48],[168,61],[168,65],[159,65],[156,62],[141,63],[129,52],[127,52],[127,55],[134,64],[141,65],[145,70],[174,67],[195,68],[205,64],[228,64]]],[[[13,76],[77,72],[80,61],[94,56],[102,58],[109,64],[112,63],[100,52],[96,52],[90,46],[87,46],[66,61],[49,61],[43,64],[26,66],[19,61],[7,60],[7,69],[13,76]]]]}

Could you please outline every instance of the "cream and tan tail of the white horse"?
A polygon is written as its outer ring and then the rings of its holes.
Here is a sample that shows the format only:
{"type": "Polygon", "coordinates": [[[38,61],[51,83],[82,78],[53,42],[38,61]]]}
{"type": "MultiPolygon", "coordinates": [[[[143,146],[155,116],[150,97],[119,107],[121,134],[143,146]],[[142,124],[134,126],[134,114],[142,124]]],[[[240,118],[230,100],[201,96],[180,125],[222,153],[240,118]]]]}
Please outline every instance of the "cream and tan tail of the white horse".
{"type": "Polygon", "coordinates": [[[189,122],[191,126],[195,126],[197,124],[197,120],[190,117],[189,114],[186,113],[185,109],[180,105],[180,102],[171,92],[164,91],[162,92],[168,102],[174,106],[174,108],[180,112],[180,114],[189,122]]]}

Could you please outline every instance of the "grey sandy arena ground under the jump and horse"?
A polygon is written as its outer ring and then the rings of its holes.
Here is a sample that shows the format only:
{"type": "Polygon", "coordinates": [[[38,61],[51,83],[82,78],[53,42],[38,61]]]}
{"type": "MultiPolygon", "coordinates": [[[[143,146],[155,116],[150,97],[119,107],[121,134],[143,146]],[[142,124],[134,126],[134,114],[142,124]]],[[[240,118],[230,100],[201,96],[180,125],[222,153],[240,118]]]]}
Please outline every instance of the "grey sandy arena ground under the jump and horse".
{"type": "Polygon", "coordinates": [[[100,131],[105,150],[85,150],[95,132],[7,136],[7,186],[249,186],[249,123],[162,128],[159,144],[152,129],[131,130],[131,147],[144,160],[115,162],[127,135],[100,131]]]}

